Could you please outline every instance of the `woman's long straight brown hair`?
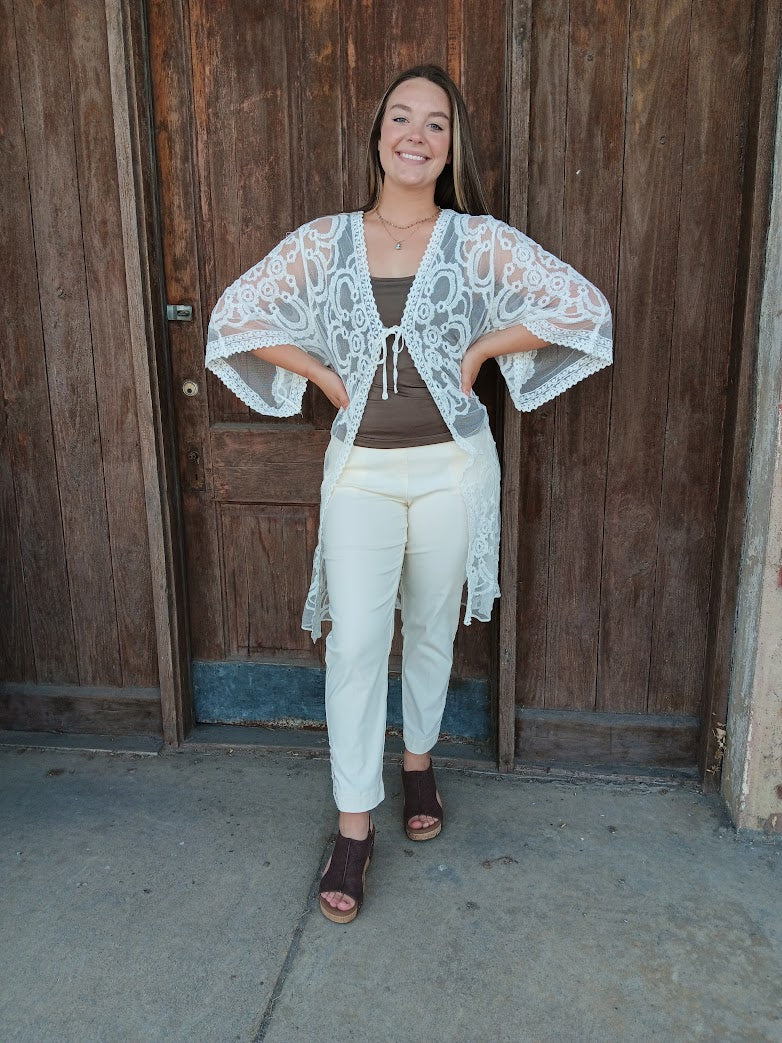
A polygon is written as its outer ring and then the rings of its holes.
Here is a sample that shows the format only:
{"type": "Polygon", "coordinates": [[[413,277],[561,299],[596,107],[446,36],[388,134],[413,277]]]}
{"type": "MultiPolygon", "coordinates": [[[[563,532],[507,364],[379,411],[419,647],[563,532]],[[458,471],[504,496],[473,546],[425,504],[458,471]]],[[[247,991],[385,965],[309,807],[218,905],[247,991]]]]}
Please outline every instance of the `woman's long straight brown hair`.
{"type": "Polygon", "coordinates": [[[435,202],[438,207],[459,211],[461,214],[488,214],[489,208],[481,185],[472,148],[469,117],[464,98],[454,80],[444,69],[435,65],[414,66],[393,80],[377,105],[372,120],[367,145],[367,196],[362,210],[372,210],[377,205],[383,190],[383,167],[377,154],[381,140],[381,125],[386,115],[389,95],[407,79],[427,79],[441,87],[450,100],[450,153],[451,162],[443,167],[435,185],[435,202]]]}

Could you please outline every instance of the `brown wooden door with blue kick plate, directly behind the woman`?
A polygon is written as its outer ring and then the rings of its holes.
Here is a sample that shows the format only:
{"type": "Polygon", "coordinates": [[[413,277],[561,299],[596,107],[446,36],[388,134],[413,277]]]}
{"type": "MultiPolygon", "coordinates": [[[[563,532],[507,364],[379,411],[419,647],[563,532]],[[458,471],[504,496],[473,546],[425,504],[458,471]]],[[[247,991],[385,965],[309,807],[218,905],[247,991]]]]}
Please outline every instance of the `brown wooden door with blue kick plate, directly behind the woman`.
{"type": "MultiPolygon", "coordinates": [[[[194,310],[170,353],[197,720],[322,719],[323,641],[300,615],[334,416],[310,388],[300,416],[265,418],[206,375],[210,312],[288,231],[362,202],[374,105],[417,62],[447,67],[479,114],[496,208],[504,34],[500,0],[149,3],[167,295],[194,310]]],[[[495,393],[492,370],[479,386],[492,415],[495,393]]],[[[446,731],[489,737],[490,630],[460,628],[446,731]]]]}

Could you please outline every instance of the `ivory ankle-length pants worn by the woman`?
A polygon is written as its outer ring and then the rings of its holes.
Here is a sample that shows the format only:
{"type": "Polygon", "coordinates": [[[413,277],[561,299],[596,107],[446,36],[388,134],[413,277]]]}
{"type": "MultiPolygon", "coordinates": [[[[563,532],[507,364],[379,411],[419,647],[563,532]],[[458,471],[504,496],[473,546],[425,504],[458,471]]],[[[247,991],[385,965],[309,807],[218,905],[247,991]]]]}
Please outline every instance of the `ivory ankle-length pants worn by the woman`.
{"type": "Polygon", "coordinates": [[[388,656],[401,600],[405,746],[437,742],[459,625],[467,517],[456,442],[353,446],[323,518],[332,630],[325,709],[334,797],[366,811],[384,797],[388,656]]]}

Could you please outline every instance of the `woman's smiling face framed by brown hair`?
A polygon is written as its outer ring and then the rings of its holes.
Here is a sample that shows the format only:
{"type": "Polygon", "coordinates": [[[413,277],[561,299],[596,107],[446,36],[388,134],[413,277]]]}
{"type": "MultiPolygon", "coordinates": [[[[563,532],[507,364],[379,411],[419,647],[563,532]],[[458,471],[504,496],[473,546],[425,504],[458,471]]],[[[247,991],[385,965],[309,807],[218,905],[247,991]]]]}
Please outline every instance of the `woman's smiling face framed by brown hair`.
{"type": "Polygon", "coordinates": [[[377,143],[385,179],[432,187],[450,160],[450,102],[429,79],[406,79],[388,97],[377,143]]]}

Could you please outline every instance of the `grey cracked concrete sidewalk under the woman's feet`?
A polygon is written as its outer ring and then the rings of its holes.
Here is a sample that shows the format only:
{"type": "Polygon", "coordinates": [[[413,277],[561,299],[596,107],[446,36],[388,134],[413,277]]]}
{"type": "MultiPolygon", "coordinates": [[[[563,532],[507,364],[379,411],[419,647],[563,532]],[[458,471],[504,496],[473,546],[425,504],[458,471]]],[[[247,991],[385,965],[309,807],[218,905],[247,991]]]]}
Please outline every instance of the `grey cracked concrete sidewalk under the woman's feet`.
{"type": "MultiPolygon", "coordinates": [[[[436,760],[437,765],[437,760],[436,760]]],[[[0,749],[0,1040],[782,1040],[782,849],[693,782],[386,766],[355,923],[315,895],[328,762],[0,749]]]]}

